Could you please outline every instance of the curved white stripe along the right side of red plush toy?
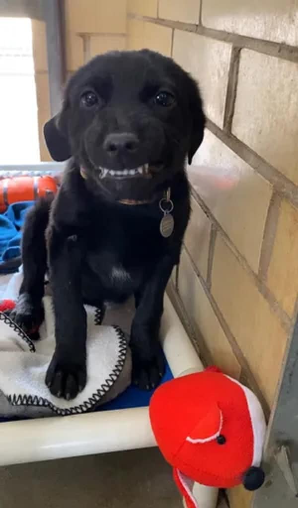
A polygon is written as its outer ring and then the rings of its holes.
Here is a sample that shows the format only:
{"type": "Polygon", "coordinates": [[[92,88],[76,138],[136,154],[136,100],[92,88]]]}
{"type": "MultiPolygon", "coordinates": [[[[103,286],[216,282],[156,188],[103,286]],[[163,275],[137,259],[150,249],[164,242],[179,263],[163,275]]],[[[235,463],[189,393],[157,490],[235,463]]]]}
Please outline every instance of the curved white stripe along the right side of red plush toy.
{"type": "Polygon", "coordinates": [[[249,388],[242,385],[232,377],[226,377],[236,383],[236,385],[239,385],[245,393],[254,436],[253,459],[251,465],[258,467],[262,461],[263,444],[266,433],[266,422],[262,406],[255,394],[249,388]]]}

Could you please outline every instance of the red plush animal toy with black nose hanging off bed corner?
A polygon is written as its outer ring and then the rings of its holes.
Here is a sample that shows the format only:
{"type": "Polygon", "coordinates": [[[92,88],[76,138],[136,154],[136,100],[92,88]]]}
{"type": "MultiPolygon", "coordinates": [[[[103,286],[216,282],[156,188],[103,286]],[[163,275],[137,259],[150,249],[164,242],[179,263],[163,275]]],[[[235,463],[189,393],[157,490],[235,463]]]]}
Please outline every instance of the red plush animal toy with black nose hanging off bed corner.
{"type": "Polygon", "coordinates": [[[261,405],[251,390],[216,367],[161,385],[151,399],[150,418],[188,508],[198,508],[194,482],[221,488],[243,483],[248,490],[263,484],[261,405]]]}

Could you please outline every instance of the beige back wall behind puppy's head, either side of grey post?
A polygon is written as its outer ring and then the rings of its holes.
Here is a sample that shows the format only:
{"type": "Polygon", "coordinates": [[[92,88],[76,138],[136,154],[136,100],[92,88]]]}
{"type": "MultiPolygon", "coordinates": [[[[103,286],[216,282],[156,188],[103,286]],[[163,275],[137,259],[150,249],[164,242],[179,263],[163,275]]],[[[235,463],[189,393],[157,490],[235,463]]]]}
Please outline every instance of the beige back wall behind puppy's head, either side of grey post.
{"type": "MultiPolygon", "coordinates": [[[[64,11],[68,76],[97,54],[126,48],[126,0],[64,0],[64,11]]],[[[50,117],[45,23],[32,20],[32,33],[40,156],[50,161],[43,138],[43,125],[50,117]]]]}

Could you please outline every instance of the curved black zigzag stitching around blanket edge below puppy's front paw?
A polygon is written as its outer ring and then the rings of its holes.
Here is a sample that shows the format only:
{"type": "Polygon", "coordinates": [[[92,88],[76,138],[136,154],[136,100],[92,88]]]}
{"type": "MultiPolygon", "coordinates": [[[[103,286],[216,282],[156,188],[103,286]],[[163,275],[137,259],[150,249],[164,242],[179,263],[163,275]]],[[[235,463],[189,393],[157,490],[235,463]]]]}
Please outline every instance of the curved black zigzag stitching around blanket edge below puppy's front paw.
{"type": "Polygon", "coordinates": [[[101,387],[92,394],[88,400],[84,401],[82,404],[74,407],[70,407],[68,409],[61,409],[52,402],[44,399],[43,397],[37,397],[33,395],[8,395],[7,399],[12,405],[17,406],[39,406],[39,407],[48,407],[58,416],[69,416],[69,415],[78,415],[83,412],[90,411],[94,409],[94,406],[100,402],[101,398],[109,391],[111,386],[115,383],[117,378],[120,376],[123,366],[127,356],[127,340],[125,338],[124,332],[118,326],[113,326],[118,338],[119,338],[119,358],[118,361],[110,373],[109,377],[105,380],[105,382],[101,385],[101,387]]]}

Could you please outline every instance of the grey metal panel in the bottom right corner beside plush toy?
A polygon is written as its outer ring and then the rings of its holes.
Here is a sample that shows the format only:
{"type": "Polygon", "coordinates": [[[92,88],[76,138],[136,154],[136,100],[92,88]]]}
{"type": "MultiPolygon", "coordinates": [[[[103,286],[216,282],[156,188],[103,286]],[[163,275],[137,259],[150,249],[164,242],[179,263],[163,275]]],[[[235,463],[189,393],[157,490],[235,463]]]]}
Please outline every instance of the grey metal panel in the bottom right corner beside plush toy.
{"type": "MultiPolygon", "coordinates": [[[[271,354],[270,348],[268,354],[271,354]]],[[[254,508],[297,508],[298,498],[292,485],[298,486],[298,320],[289,344],[280,393],[270,423],[264,469],[266,481],[255,493],[254,508]],[[281,446],[288,450],[289,465],[286,461],[277,464],[275,457],[281,446]]]]}

